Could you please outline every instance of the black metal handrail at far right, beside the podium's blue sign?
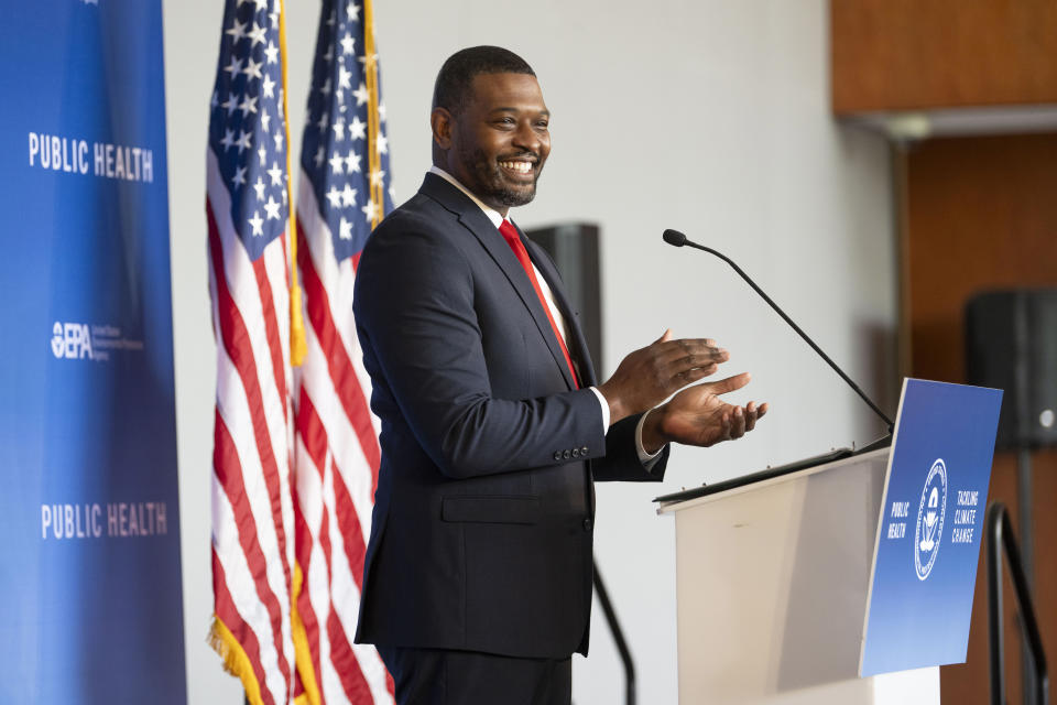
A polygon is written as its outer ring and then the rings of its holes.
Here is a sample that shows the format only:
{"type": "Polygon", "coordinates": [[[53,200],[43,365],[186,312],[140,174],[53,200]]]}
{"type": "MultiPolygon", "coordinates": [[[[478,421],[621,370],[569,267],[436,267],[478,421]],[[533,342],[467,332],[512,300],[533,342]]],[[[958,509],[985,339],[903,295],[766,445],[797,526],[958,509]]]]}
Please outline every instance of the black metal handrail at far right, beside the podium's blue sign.
{"type": "Polygon", "coordinates": [[[1049,676],[1046,674],[1046,654],[1043,651],[1043,640],[1038,633],[1038,621],[1035,618],[1035,608],[1032,606],[1032,595],[1021,564],[1021,552],[1013,534],[1013,524],[1010,512],[1002,502],[993,502],[988,509],[987,523],[988,541],[988,638],[991,657],[991,703],[1005,703],[1005,647],[1002,633],[1002,551],[1010,564],[1010,577],[1013,581],[1013,593],[1016,596],[1016,606],[1024,627],[1027,653],[1034,664],[1033,701],[1028,701],[1028,693],[1024,694],[1024,702],[1034,702],[1036,705],[1047,705],[1049,702],[1049,676]]]}

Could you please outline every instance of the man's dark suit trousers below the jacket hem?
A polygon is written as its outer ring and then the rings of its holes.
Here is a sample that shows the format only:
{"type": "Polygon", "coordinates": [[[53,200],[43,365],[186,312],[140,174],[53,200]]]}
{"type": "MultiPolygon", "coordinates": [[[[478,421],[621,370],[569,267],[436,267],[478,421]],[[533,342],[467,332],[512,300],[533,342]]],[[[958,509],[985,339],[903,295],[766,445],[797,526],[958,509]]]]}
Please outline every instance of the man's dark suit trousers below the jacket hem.
{"type": "Polygon", "coordinates": [[[573,661],[379,646],[397,705],[570,705],[573,661]]]}

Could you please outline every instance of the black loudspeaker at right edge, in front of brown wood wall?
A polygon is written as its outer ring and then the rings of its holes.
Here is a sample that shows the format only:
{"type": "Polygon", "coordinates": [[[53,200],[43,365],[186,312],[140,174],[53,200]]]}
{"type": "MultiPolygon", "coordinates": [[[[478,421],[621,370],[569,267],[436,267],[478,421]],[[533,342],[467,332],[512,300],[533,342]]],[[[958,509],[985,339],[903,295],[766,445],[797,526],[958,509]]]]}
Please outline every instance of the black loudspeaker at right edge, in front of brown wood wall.
{"type": "Polygon", "coordinates": [[[966,304],[970,384],[1005,391],[998,446],[1057,445],[1057,289],[985,292],[966,304]]]}

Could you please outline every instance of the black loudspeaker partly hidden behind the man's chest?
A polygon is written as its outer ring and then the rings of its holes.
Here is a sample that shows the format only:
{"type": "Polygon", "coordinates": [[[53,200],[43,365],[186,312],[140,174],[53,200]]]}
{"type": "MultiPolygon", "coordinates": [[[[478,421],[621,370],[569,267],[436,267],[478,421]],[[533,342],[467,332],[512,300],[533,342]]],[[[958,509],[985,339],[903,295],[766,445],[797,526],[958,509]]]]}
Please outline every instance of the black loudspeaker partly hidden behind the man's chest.
{"type": "Polygon", "coordinates": [[[569,223],[525,234],[547,251],[562,274],[569,303],[580,312],[580,328],[597,373],[602,375],[602,278],[598,226],[569,223]]]}

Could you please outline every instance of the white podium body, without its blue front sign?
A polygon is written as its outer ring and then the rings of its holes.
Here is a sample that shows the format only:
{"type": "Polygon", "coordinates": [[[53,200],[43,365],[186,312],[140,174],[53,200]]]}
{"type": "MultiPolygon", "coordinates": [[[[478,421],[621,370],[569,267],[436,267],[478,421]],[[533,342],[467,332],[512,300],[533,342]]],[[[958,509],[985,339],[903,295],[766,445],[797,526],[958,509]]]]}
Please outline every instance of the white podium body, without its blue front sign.
{"type": "Polygon", "coordinates": [[[939,669],[860,679],[889,448],[662,505],[679,703],[939,704],[939,669]]]}

